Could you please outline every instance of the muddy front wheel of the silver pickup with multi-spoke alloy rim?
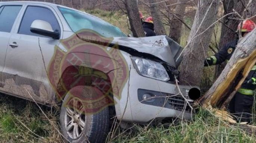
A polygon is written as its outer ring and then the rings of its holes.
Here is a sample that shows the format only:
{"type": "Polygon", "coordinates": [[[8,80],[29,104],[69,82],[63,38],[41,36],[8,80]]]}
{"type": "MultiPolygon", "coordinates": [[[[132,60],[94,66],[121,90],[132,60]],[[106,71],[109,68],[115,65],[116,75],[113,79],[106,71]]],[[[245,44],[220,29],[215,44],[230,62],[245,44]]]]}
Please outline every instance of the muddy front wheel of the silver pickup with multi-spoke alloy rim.
{"type": "MultiPolygon", "coordinates": [[[[86,93],[93,92],[93,87],[87,87],[90,90],[86,93]]],[[[95,92],[94,92],[95,93],[95,92]]],[[[63,100],[60,114],[60,125],[63,138],[66,143],[105,143],[109,132],[110,115],[108,107],[105,107],[99,113],[86,114],[82,111],[77,112],[72,106],[67,107],[65,103],[75,102],[81,105],[81,100],[71,97],[67,94],[63,100]],[[79,103],[80,102],[80,103],[79,103]],[[84,113],[84,114],[83,114],[84,113]],[[73,114],[71,117],[70,114],[73,114]],[[79,117],[78,117],[79,116],[79,117]],[[84,121],[84,122],[82,122],[84,121]],[[84,127],[82,128],[82,126],[84,127]],[[77,130],[75,130],[77,129],[77,130]],[[74,133],[75,130],[75,133],[74,133]],[[89,140],[89,142],[88,142],[89,140]]],[[[84,108],[79,107],[79,108],[84,108]]]]}

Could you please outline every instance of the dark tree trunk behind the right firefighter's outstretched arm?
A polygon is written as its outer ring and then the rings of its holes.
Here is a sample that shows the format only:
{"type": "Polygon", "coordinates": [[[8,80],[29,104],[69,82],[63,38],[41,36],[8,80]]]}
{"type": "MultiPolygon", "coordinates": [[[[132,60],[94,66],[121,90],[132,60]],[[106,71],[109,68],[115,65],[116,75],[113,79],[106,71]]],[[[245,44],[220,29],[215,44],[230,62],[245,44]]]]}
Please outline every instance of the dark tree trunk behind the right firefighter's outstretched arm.
{"type": "MultiPolygon", "coordinates": [[[[248,2],[249,0],[246,0],[248,2]]],[[[246,3],[245,3],[246,4],[246,3]]],[[[225,0],[223,1],[224,7],[226,7],[226,12],[224,11],[224,14],[232,13],[233,9],[237,11],[240,15],[243,14],[244,7],[241,3],[241,0],[225,0]]],[[[225,9],[225,8],[224,8],[225,9]]],[[[235,31],[237,30],[237,26],[239,24],[239,20],[236,19],[230,19],[235,18],[237,15],[232,14],[229,16],[226,16],[223,18],[222,22],[222,28],[221,28],[221,35],[220,35],[220,42],[219,42],[219,50],[223,48],[228,42],[231,42],[232,40],[235,40],[236,34],[235,31]]],[[[222,63],[221,65],[216,65],[215,68],[215,78],[218,78],[222,70],[225,68],[226,63],[222,63]]]]}

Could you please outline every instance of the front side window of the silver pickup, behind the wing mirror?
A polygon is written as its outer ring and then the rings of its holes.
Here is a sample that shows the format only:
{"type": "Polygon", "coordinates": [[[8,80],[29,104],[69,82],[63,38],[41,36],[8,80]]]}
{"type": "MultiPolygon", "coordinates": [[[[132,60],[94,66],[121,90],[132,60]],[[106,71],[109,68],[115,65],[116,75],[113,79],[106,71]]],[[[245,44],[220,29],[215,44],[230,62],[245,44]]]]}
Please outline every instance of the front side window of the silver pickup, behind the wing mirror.
{"type": "Polygon", "coordinates": [[[47,37],[47,36],[38,35],[36,33],[32,33],[30,31],[30,26],[34,20],[44,20],[46,22],[49,22],[54,31],[56,32],[58,31],[59,33],[61,31],[59,27],[59,23],[51,10],[44,7],[28,6],[22,18],[18,33],[25,34],[25,35],[47,37]]]}

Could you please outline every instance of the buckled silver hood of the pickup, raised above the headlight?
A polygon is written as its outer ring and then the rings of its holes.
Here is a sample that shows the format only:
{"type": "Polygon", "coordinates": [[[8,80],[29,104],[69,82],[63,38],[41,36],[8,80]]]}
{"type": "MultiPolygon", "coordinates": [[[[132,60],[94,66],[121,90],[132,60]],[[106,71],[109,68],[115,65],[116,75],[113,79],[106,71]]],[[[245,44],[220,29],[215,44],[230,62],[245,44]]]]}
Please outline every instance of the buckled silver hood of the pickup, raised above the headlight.
{"type": "Polygon", "coordinates": [[[161,60],[167,62],[175,68],[177,68],[181,63],[181,58],[179,55],[181,54],[183,48],[166,35],[143,38],[101,38],[97,34],[90,31],[76,34],[78,38],[83,41],[100,45],[108,45],[110,47],[117,45],[121,51],[127,52],[132,56],[161,60]]]}

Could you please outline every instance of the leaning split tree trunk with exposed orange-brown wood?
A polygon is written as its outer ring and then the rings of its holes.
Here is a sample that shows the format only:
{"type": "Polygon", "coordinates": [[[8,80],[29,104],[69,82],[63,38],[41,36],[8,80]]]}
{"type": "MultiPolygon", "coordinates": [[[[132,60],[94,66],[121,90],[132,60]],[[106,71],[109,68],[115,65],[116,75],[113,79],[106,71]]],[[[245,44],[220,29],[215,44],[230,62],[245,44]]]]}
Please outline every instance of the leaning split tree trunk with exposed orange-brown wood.
{"type": "Polygon", "coordinates": [[[227,66],[201,98],[204,107],[225,107],[256,63],[256,29],[239,41],[227,66]],[[243,71],[242,76],[238,74],[243,71]],[[234,81],[238,81],[238,84],[234,81]]]}

